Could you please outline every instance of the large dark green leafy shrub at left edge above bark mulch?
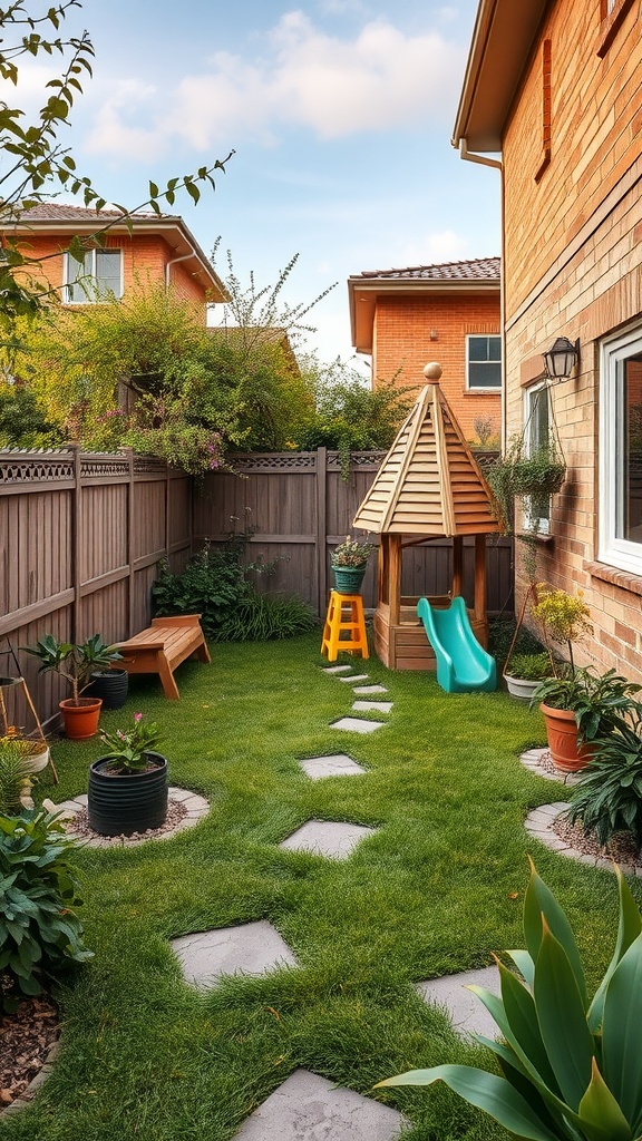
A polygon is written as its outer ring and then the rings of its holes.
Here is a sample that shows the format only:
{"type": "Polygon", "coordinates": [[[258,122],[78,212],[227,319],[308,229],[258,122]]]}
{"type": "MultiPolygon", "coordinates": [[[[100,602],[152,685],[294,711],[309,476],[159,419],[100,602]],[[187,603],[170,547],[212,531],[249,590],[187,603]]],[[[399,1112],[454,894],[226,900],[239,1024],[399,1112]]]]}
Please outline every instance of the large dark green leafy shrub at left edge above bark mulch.
{"type": "Polygon", "coordinates": [[[82,903],[69,857],[73,844],[42,809],[0,816],[0,988],[40,994],[43,978],[93,957],[74,908],[82,903]]]}

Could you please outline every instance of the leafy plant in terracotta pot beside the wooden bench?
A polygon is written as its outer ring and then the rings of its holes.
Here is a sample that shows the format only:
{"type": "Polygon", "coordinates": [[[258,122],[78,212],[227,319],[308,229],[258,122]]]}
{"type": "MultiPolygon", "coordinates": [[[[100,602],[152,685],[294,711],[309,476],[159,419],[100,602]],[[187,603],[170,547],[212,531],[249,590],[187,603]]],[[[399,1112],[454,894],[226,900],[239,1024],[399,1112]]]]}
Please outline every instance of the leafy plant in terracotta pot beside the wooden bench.
{"type": "Polygon", "coordinates": [[[115,646],[107,646],[101,634],[93,634],[87,641],[64,642],[54,634],[45,634],[35,646],[24,647],[27,654],[40,662],[39,673],[53,672],[69,681],[71,697],[59,703],[65,734],[73,741],[93,737],[98,728],[101,698],[82,697],[96,670],[107,669],[122,655],[115,646]]]}

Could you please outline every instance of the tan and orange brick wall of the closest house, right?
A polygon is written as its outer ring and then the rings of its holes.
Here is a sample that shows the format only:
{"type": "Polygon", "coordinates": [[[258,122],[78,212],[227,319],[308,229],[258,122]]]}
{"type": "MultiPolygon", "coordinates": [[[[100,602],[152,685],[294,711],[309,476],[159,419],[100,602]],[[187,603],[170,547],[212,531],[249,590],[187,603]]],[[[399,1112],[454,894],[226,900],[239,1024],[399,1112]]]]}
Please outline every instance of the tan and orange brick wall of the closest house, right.
{"type": "MultiPolygon", "coordinates": [[[[572,379],[552,389],[568,479],[553,499],[538,577],[584,591],[595,636],[578,658],[642,682],[642,577],[597,556],[599,342],[642,309],[642,46],[637,7],[601,59],[600,5],[553,6],[551,161],[541,160],[540,44],[505,139],[506,416],[521,430],[523,389],[559,334],[581,345],[572,379]]],[[[517,558],[519,563],[519,558],[517,558]]],[[[517,605],[524,582],[517,574],[517,605]]]]}

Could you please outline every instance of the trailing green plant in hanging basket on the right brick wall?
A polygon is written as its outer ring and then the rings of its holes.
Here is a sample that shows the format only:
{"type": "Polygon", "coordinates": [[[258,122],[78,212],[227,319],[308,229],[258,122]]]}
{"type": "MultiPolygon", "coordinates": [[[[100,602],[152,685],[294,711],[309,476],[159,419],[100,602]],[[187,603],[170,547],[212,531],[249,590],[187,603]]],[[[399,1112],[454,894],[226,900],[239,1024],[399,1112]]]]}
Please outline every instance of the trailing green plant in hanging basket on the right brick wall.
{"type": "Polygon", "coordinates": [[[492,491],[497,515],[505,534],[511,532],[515,499],[525,503],[528,515],[536,520],[538,504],[547,503],[567,477],[567,464],[553,442],[529,447],[523,436],[513,436],[503,456],[487,468],[485,478],[492,491]]]}

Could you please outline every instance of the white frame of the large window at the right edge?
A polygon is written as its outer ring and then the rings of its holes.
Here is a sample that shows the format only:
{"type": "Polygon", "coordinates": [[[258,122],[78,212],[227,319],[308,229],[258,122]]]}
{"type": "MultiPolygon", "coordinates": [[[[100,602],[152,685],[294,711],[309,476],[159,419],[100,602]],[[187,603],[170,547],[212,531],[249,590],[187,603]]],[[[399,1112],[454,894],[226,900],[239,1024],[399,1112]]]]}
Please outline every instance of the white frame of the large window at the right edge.
{"type": "MultiPolygon", "coordinates": [[[[623,499],[618,495],[618,423],[621,415],[619,389],[624,362],[642,353],[642,323],[629,325],[600,346],[600,442],[597,559],[608,566],[642,575],[642,542],[618,537],[623,499]],[[618,516],[620,518],[618,518],[618,516]],[[619,524],[619,526],[618,526],[619,524]]],[[[621,432],[620,432],[621,438],[621,432]]]]}

